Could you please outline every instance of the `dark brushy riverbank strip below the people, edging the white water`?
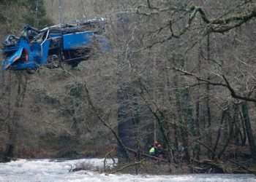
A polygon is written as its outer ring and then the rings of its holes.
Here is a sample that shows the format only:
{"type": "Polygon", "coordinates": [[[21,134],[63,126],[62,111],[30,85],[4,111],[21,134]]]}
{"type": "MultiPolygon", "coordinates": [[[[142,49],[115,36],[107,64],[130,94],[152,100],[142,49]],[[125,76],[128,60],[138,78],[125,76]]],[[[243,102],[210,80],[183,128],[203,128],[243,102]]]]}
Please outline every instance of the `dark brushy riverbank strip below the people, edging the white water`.
{"type": "Polygon", "coordinates": [[[187,163],[166,163],[159,161],[143,161],[131,162],[123,165],[118,165],[116,169],[111,170],[110,173],[121,172],[129,174],[151,174],[151,175],[183,175],[183,174],[254,174],[256,175],[256,165],[252,162],[221,162],[212,160],[194,161],[187,163]]]}

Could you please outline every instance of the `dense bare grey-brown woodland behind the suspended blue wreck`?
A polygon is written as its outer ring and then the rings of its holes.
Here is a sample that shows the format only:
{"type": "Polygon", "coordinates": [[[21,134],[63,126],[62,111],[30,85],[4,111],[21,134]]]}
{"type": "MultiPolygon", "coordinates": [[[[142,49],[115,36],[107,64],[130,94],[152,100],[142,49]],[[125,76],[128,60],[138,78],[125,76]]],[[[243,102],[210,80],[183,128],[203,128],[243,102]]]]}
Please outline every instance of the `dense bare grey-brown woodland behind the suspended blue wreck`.
{"type": "MultiPolygon", "coordinates": [[[[59,1],[0,7],[1,38],[59,23],[59,1]]],[[[105,17],[111,50],[78,68],[1,71],[1,156],[111,154],[143,167],[159,141],[170,166],[255,173],[256,1],[64,0],[61,12],[65,23],[105,17]]]]}

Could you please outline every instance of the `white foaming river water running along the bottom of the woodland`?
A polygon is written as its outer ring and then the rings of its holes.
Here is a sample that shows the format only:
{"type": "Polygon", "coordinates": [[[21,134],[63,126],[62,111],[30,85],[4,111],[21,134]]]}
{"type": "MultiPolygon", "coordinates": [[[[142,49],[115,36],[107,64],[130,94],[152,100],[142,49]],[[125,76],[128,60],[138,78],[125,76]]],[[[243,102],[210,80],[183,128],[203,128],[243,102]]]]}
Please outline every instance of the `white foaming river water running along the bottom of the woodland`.
{"type": "Polygon", "coordinates": [[[0,182],[256,182],[254,175],[105,175],[93,169],[102,167],[103,159],[50,160],[18,159],[0,164],[0,182]],[[91,170],[70,173],[76,164],[90,166],[91,170]]]}

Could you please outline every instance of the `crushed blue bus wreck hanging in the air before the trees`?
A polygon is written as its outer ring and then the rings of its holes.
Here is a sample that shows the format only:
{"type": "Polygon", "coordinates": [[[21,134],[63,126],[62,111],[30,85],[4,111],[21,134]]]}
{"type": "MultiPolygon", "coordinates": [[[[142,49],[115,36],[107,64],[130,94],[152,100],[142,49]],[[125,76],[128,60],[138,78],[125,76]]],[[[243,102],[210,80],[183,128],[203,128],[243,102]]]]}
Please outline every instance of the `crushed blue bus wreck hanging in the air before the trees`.
{"type": "Polygon", "coordinates": [[[40,66],[57,68],[61,63],[78,66],[82,60],[90,58],[95,44],[101,44],[97,39],[105,39],[104,28],[103,18],[75,25],[53,25],[42,30],[26,25],[19,37],[10,35],[4,40],[2,68],[35,70],[40,66]]]}

